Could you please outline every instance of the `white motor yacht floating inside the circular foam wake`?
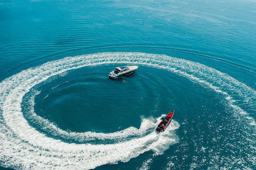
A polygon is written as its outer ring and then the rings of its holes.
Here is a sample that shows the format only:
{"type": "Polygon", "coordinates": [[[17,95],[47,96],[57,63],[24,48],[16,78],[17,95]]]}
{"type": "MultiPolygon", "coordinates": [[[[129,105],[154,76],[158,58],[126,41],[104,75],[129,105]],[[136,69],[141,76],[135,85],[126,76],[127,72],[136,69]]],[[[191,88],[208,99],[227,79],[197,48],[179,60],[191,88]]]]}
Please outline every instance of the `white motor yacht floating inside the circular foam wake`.
{"type": "Polygon", "coordinates": [[[138,66],[116,67],[116,69],[114,71],[111,71],[108,76],[112,79],[118,79],[133,73],[137,68],[138,66]]]}

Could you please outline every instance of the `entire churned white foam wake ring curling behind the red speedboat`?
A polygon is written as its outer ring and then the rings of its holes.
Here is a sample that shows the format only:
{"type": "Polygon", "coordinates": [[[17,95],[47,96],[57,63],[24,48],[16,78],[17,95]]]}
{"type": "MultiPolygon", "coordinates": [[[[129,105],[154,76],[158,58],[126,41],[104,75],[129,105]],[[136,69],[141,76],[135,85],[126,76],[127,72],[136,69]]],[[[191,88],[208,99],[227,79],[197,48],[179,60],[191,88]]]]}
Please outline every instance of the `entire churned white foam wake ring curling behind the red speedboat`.
{"type": "MultiPolygon", "coordinates": [[[[77,138],[83,144],[69,144],[61,140],[47,137],[38,132],[23,117],[21,102],[22,98],[33,86],[46,81],[52,76],[61,75],[71,69],[84,66],[96,66],[99,64],[127,63],[141,64],[159,69],[166,69],[177,75],[187,77],[191,81],[213,89],[226,97],[227,103],[236,110],[245,101],[255,110],[256,92],[243,83],[227,74],[216,71],[205,65],[169,57],[147,53],[96,53],[76,57],[66,57],[61,60],[47,62],[35,68],[29,68],[0,83],[0,160],[3,166],[18,169],[93,169],[108,163],[129,161],[139,154],[153,150],[162,154],[171,144],[178,142],[175,129],[179,124],[173,120],[161,134],[147,132],[153,126],[150,119],[142,119],[141,127],[134,127],[114,133],[94,132],[66,132],[61,130],[47,119],[36,115],[32,110],[32,117],[36,121],[44,121],[45,128],[55,130],[63,137],[77,138]],[[236,98],[236,100],[233,100],[236,98]],[[147,133],[146,133],[147,132],[147,133]],[[134,134],[137,134],[137,137],[134,134]],[[141,135],[144,134],[144,135],[141,135]],[[89,144],[89,138],[126,138],[133,135],[129,140],[119,141],[115,144],[89,144]],[[88,138],[88,139],[87,139],[88,138]]],[[[33,104],[32,106],[33,107],[33,104]]],[[[251,123],[254,125],[255,123],[251,123]]]]}

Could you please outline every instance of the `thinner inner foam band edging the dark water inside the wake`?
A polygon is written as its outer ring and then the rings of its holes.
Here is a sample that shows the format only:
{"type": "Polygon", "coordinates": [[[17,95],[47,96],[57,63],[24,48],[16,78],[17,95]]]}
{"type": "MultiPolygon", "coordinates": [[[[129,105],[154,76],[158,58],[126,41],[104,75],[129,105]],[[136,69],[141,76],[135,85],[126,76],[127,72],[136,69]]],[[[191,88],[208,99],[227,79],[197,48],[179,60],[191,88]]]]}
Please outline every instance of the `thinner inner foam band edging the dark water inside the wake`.
{"type": "Polygon", "coordinates": [[[134,127],[129,127],[124,130],[120,130],[117,132],[112,133],[103,133],[103,132],[72,132],[72,131],[65,131],[61,128],[58,128],[56,125],[54,125],[49,120],[40,117],[34,112],[34,98],[36,95],[40,94],[40,91],[33,90],[32,96],[27,101],[27,105],[29,106],[29,110],[27,110],[27,115],[29,117],[29,120],[34,122],[34,124],[37,124],[40,126],[42,130],[45,130],[47,132],[50,132],[53,136],[56,137],[62,137],[64,139],[72,139],[73,141],[77,141],[79,143],[85,143],[89,141],[93,141],[95,143],[95,140],[111,140],[111,141],[124,141],[128,137],[137,137],[140,135],[144,135],[150,128],[155,127],[155,120],[152,119],[142,119],[141,126],[139,129],[134,127]]]}

